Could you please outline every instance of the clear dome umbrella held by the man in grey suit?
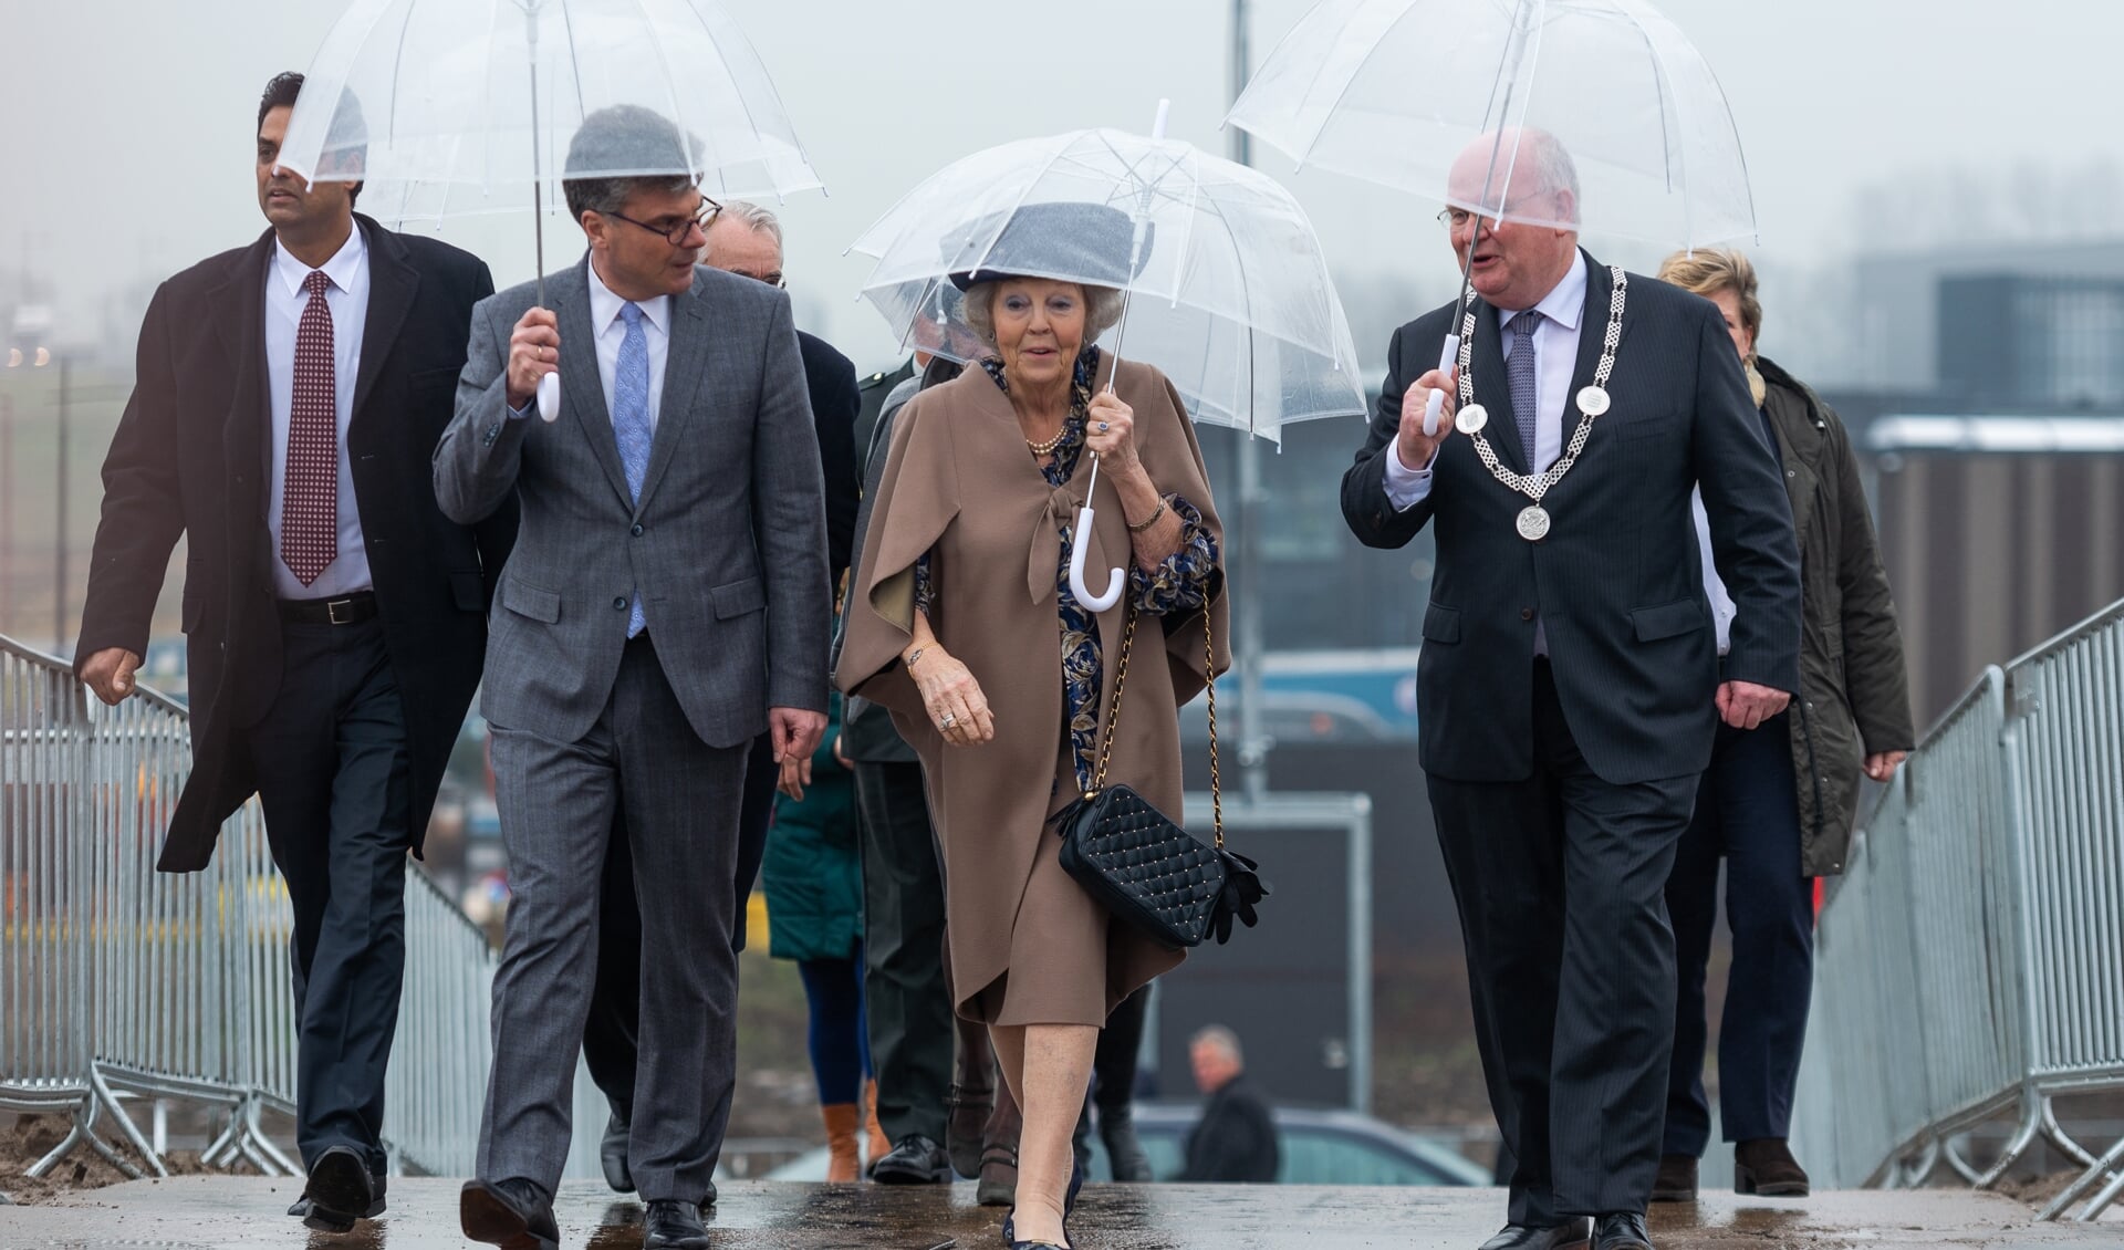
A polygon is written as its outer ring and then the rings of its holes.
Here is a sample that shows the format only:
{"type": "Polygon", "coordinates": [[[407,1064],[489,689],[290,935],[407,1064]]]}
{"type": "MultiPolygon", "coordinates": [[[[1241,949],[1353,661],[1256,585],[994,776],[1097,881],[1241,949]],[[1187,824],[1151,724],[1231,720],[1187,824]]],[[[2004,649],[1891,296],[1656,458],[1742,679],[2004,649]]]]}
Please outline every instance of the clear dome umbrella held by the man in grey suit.
{"type": "MultiPolygon", "coordinates": [[[[355,0],[310,59],[280,163],[363,183],[363,208],[395,223],[529,212],[544,306],[544,206],[582,119],[614,106],[648,125],[567,176],[690,176],[714,199],[820,187],[714,0],[355,0]]],[[[539,412],[559,412],[556,380],[539,412]]]]}

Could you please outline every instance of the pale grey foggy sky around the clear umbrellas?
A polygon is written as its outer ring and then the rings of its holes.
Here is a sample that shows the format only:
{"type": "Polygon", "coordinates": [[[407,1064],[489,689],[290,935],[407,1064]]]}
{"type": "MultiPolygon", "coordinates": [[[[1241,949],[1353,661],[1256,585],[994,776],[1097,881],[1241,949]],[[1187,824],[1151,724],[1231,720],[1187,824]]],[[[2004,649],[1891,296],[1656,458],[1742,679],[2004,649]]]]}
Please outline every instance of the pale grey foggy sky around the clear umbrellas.
{"type": "MultiPolygon", "coordinates": [[[[1228,0],[729,6],[828,189],[780,206],[799,323],[858,369],[890,365],[894,344],[856,301],[869,261],[843,248],[943,163],[1085,125],[1147,129],[1160,96],[1172,98],[1175,136],[1223,151],[1228,0]]],[[[1306,6],[1253,0],[1255,64],[1306,6]]],[[[1956,170],[1965,185],[1997,176],[2009,197],[2031,170],[2116,161],[2124,142],[2116,0],[1659,6],[1731,100],[1767,274],[1831,265],[1852,240],[1899,238],[1892,221],[1854,221],[1861,187],[1956,170]]],[[[68,337],[91,342],[115,287],[253,240],[263,229],[251,183],[259,89],[304,68],[338,13],[336,0],[0,0],[0,270],[28,257],[55,282],[68,337]]],[[[1449,295],[1436,206],[1334,174],[1294,178],[1260,144],[1255,163],[1298,193],[1338,276],[1404,280],[1402,316],[1449,295]]],[[[2105,204],[2067,216],[2116,223],[2118,212],[2105,204]]],[[[580,236],[559,225],[565,257],[580,236]]],[[[531,276],[527,223],[472,219],[442,238],[480,253],[503,287],[531,276]]],[[[1642,267],[1657,253],[1612,248],[1604,259],[1642,267]]],[[[1776,310],[1778,291],[1765,299],[1776,310]]],[[[1368,369],[1383,350],[1359,342],[1368,369]]]]}

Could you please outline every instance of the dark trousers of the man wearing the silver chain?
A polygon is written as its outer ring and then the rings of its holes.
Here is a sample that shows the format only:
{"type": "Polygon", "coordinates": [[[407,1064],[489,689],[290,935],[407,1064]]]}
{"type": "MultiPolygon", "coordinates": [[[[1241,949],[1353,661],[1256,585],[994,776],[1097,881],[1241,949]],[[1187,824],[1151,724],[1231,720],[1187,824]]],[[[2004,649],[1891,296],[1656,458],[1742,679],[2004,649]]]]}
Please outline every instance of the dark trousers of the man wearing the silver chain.
{"type": "Polygon", "coordinates": [[[1595,777],[1546,660],[1534,673],[1534,777],[1429,779],[1483,1076],[1514,1157],[1514,1225],[1642,1212],[1650,1199],[1674,1044],[1663,891],[1695,789],[1695,777],[1595,777]]]}

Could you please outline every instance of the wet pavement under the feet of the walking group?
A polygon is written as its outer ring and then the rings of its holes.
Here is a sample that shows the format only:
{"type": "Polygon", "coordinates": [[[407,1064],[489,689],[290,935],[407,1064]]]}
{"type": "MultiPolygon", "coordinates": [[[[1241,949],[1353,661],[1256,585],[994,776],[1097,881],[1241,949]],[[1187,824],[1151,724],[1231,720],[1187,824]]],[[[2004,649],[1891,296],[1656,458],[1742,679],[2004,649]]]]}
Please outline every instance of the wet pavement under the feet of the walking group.
{"type": "MultiPolygon", "coordinates": [[[[57,1205],[0,1208],[0,1250],[459,1250],[457,1182],[391,1182],[391,1212],[353,1233],[310,1233],[285,1210],[287,1180],[183,1176],[85,1191],[57,1205]]],[[[569,1250],[637,1250],[641,1208],[595,1182],[561,1188],[569,1250]]],[[[1474,1250],[1502,1222],[1483,1188],[1092,1186],[1070,1220],[1079,1250],[1474,1250]]],[[[733,1182],[709,1225],[718,1250],[990,1250],[1003,1212],[973,1186],[886,1188],[733,1182]]],[[[1655,1208],[1661,1250],[2107,1248],[2124,1222],[2037,1225],[2026,1205],[1965,1191],[1831,1193],[1797,1201],[1712,1195],[1655,1208]]]]}

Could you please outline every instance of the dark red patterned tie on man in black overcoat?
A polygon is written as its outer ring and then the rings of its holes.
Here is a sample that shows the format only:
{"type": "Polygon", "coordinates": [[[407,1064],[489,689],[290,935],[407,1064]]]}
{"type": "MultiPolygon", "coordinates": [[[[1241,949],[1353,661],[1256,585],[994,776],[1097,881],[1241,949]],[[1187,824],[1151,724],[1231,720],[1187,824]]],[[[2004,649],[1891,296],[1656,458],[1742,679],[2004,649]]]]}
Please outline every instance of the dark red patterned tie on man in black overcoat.
{"type": "Polygon", "coordinates": [[[304,586],[340,554],[340,403],[331,376],[331,308],[321,270],[302,280],[310,301],[295,327],[295,397],[287,418],[280,560],[304,586]]]}

